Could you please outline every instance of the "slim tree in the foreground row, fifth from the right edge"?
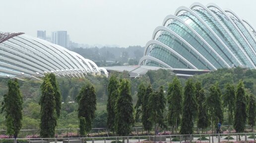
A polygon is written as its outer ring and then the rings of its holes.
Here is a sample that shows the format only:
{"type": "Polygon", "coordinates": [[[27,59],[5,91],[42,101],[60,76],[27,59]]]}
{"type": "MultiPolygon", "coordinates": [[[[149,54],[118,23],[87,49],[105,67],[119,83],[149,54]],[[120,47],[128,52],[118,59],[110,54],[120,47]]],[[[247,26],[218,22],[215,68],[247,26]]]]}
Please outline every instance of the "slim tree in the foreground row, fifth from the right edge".
{"type": "Polygon", "coordinates": [[[205,92],[202,88],[198,93],[198,114],[197,114],[197,126],[201,129],[206,129],[209,126],[209,115],[205,104],[205,92]]]}

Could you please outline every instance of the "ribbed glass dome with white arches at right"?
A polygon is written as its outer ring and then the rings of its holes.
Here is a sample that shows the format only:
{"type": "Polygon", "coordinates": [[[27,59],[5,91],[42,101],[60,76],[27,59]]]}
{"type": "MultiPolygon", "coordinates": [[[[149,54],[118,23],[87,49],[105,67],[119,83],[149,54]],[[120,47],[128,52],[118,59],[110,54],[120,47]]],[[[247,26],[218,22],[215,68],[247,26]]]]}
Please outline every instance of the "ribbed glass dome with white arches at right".
{"type": "Polygon", "coordinates": [[[256,69],[253,26],[215,4],[180,7],[175,15],[165,18],[163,26],[157,27],[153,35],[152,40],[164,46],[147,44],[139,65],[199,70],[238,66],[256,69]]]}

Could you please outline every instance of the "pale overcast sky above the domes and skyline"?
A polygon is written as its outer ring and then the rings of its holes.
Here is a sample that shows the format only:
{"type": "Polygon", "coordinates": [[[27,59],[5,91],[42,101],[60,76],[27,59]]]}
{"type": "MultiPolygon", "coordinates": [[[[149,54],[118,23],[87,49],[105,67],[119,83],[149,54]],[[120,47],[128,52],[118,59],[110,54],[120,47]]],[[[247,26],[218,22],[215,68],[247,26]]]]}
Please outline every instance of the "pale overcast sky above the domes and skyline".
{"type": "Polygon", "coordinates": [[[256,0],[1,0],[0,31],[67,31],[78,43],[145,46],[167,15],[193,2],[231,9],[256,27],[256,0]]]}

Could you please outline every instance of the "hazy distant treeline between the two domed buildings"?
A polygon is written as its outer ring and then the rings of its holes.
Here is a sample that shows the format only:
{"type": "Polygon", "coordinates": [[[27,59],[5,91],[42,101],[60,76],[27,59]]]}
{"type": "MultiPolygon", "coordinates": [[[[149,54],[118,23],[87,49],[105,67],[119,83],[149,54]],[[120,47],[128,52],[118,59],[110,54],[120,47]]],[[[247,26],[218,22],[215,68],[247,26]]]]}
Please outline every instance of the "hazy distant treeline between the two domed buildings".
{"type": "Polygon", "coordinates": [[[94,47],[70,49],[84,58],[93,60],[98,66],[137,65],[143,56],[144,48],[141,46],[119,47],[94,47]]]}

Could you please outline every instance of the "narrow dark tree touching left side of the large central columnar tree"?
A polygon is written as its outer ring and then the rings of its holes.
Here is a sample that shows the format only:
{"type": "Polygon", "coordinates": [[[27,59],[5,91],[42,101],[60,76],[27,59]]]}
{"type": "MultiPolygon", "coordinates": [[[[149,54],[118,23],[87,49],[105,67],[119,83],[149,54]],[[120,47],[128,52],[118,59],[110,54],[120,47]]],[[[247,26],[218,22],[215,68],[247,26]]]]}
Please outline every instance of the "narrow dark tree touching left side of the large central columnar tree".
{"type": "Polygon", "coordinates": [[[108,103],[107,103],[107,125],[110,131],[115,131],[115,105],[118,97],[119,81],[117,76],[112,75],[108,84],[108,103]]]}

